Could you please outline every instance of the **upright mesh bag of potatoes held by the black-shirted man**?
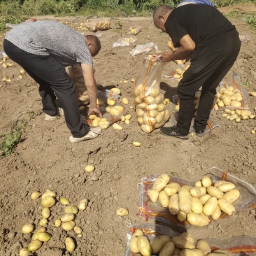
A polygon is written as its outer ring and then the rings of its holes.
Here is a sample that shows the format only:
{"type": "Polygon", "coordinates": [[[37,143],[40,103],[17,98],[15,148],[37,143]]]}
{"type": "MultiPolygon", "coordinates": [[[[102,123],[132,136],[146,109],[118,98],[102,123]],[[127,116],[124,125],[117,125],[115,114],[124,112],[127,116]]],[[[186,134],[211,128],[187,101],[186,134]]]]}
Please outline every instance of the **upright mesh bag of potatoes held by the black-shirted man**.
{"type": "Polygon", "coordinates": [[[163,67],[164,62],[161,58],[146,57],[143,69],[134,82],[136,116],[138,124],[146,133],[162,127],[171,115],[165,108],[164,95],[160,92],[163,67]]]}

